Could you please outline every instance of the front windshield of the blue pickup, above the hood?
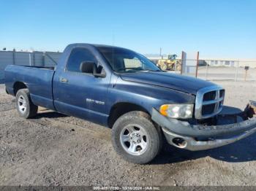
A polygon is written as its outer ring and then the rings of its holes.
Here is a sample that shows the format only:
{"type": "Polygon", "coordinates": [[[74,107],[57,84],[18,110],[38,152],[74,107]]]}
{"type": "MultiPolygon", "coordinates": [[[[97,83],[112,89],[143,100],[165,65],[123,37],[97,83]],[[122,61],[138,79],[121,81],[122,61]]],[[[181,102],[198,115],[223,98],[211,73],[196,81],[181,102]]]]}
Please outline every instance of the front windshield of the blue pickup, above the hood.
{"type": "Polygon", "coordinates": [[[97,47],[116,72],[161,71],[148,58],[119,47],[97,47]]]}

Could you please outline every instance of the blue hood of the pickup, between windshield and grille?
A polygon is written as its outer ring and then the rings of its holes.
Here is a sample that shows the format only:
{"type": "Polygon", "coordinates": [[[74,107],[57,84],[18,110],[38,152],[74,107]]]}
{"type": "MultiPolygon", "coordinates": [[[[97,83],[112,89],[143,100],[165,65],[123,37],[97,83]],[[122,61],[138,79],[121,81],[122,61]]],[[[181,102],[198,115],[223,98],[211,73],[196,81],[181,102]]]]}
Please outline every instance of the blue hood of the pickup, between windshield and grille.
{"type": "Polygon", "coordinates": [[[121,79],[129,82],[138,82],[148,85],[157,85],[159,87],[167,87],[184,93],[196,94],[197,90],[203,87],[215,85],[195,77],[187,77],[179,74],[171,74],[169,72],[160,71],[138,71],[133,73],[120,74],[121,79]]]}

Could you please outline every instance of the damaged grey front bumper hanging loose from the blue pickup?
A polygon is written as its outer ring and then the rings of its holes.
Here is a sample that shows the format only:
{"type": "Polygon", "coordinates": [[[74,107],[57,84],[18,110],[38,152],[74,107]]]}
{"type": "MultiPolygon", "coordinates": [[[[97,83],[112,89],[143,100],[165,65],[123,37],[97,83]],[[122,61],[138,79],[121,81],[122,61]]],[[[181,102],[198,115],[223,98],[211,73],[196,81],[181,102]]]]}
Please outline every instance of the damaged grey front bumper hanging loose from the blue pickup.
{"type": "Polygon", "coordinates": [[[167,142],[181,149],[191,151],[213,149],[231,144],[256,132],[256,103],[251,101],[244,112],[221,114],[214,125],[191,125],[189,122],[171,119],[152,111],[152,120],[162,127],[167,142]],[[225,125],[220,122],[228,120],[225,125]],[[240,120],[240,122],[238,122],[240,120]]]}

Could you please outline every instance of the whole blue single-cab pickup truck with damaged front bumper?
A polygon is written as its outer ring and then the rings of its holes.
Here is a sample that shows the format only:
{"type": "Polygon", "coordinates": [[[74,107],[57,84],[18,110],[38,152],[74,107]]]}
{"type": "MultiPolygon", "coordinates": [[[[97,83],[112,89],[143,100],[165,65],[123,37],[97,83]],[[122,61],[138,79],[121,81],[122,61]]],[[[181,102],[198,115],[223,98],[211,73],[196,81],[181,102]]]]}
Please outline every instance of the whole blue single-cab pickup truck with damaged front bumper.
{"type": "Polygon", "coordinates": [[[181,149],[221,147],[255,133],[255,102],[221,114],[225,90],[162,71],[132,50],[69,44],[53,68],[7,66],[6,91],[20,117],[43,106],[112,128],[113,147],[132,163],[149,163],[164,141],[181,149]]]}

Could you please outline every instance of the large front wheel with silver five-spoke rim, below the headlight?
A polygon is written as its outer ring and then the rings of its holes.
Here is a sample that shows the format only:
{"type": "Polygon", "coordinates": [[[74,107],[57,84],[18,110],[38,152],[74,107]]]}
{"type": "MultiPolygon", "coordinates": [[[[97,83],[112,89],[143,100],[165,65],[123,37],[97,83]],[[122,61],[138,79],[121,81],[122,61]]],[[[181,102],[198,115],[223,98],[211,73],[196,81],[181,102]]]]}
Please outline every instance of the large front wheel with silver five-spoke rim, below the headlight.
{"type": "Polygon", "coordinates": [[[145,112],[128,112],[112,128],[113,147],[124,160],[149,163],[162,148],[162,133],[145,112]]]}

